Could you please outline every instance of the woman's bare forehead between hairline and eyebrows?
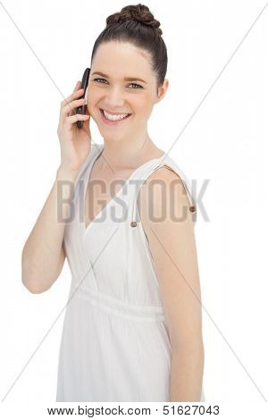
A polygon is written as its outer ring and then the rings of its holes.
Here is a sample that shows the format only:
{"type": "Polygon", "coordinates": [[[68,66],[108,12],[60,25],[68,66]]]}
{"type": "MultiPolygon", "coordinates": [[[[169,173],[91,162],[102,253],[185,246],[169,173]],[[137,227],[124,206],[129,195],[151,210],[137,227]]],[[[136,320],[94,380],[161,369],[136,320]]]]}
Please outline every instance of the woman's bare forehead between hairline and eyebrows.
{"type": "Polygon", "coordinates": [[[98,46],[91,71],[102,71],[111,77],[152,77],[147,52],[125,42],[111,41],[98,46]]]}

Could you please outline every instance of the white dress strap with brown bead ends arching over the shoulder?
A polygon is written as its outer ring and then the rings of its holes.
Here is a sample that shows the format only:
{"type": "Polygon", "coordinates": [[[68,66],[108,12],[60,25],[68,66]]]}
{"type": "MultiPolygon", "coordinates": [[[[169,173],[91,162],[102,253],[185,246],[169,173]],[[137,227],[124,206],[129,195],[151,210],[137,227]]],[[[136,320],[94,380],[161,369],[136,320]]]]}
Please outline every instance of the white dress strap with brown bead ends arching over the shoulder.
{"type": "MultiPolygon", "coordinates": [[[[162,159],[162,158],[161,158],[162,159]]],[[[171,171],[179,175],[180,180],[183,183],[184,189],[188,197],[188,209],[191,213],[197,213],[197,200],[194,196],[193,189],[190,186],[187,176],[182,172],[180,167],[169,156],[166,156],[163,160],[157,159],[153,163],[148,163],[142,168],[142,172],[137,174],[137,179],[133,180],[134,188],[130,194],[130,225],[136,227],[137,223],[140,223],[140,214],[138,211],[138,193],[143,183],[147,181],[147,178],[155,172],[158,168],[166,166],[171,171]]],[[[196,220],[195,220],[196,221],[196,220]]]]}

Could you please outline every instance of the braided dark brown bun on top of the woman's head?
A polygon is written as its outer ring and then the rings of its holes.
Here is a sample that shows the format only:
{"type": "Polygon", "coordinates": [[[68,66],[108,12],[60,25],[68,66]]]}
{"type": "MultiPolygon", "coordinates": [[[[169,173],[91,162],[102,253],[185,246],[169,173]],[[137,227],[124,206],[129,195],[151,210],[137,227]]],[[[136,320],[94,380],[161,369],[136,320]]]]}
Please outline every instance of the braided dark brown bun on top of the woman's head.
{"type": "Polygon", "coordinates": [[[156,21],[154,15],[145,4],[128,5],[121,9],[119,13],[113,13],[106,19],[106,27],[120,21],[138,21],[152,29],[155,29],[159,35],[162,35],[160,22],[156,21]]]}

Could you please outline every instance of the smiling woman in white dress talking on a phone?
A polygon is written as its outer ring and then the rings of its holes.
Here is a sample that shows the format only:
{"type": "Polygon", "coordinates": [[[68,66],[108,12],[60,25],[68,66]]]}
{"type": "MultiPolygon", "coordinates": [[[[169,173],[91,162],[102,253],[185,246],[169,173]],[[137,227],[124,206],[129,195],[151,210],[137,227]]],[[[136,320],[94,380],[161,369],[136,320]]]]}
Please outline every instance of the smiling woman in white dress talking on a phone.
{"type": "Polygon", "coordinates": [[[147,133],[168,88],[159,26],[143,4],[109,16],[87,102],[78,82],[62,103],[61,164],[22,271],[41,292],[65,256],[71,268],[57,401],[205,400],[196,207],[180,168],[147,133]],[[83,104],[87,113],[75,114],[83,104]],[[91,147],[90,116],[104,146],[91,147]],[[55,223],[59,197],[65,223],[55,223]]]}

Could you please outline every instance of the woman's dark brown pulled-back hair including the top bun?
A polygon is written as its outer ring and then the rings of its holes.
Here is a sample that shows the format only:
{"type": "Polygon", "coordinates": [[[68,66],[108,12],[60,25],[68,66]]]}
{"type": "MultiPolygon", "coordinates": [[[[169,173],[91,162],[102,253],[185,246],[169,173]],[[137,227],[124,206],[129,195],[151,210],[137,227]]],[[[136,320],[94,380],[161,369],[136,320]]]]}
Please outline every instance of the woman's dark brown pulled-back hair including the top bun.
{"type": "Polygon", "coordinates": [[[123,7],[121,12],[107,17],[105,29],[96,38],[91,63],[100,44],[109,41],[130,42],[149,53],[157,88],[161,87],[167,70],[167,51],[159,27],[160,22],[155,20],[145,4],[123,7]]]}

